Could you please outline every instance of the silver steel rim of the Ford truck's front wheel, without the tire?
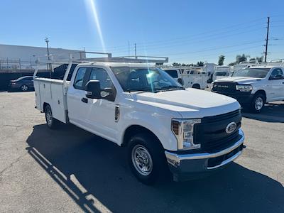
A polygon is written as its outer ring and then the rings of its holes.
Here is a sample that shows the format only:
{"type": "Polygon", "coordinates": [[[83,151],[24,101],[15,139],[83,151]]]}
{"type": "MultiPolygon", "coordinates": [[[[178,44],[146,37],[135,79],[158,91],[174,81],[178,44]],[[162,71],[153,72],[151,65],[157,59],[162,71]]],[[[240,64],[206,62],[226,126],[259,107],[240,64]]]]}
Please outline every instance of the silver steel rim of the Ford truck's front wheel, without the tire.
{"type": "Polygon", "coordinates": [[[144,176],[151,174],[153,170],[153,160],[145,146],[140,144],[134,146],[131,153],[131,159],[134,168],[136,168],[138,173],[144,176]]]}

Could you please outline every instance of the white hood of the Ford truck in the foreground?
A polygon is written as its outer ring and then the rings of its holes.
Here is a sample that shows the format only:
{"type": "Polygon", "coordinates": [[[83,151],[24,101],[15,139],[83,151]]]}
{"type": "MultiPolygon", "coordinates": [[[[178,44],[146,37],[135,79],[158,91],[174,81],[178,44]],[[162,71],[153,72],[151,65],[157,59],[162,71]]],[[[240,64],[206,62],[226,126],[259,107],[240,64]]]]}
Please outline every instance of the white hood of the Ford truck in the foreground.
{"type": "Polygon", "coordinates": [[[153,107],[178,111],[182,118],[202,118],[239,109],[236,99],[202,89],[132,94],[133,100],[153,107]]]}

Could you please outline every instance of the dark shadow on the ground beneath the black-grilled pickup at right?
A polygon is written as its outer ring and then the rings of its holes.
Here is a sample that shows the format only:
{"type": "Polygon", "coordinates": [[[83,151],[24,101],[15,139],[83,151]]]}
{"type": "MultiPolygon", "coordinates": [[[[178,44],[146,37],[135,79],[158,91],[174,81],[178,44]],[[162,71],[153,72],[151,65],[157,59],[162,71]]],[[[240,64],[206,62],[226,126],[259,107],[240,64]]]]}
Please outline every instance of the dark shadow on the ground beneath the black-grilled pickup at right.
{"type": "Polygon", "coordinates": [[[266,104],[260,114],[251,114],[243,111],[241,115],[247,119],[284,123],[284,102],[266,104]]]}

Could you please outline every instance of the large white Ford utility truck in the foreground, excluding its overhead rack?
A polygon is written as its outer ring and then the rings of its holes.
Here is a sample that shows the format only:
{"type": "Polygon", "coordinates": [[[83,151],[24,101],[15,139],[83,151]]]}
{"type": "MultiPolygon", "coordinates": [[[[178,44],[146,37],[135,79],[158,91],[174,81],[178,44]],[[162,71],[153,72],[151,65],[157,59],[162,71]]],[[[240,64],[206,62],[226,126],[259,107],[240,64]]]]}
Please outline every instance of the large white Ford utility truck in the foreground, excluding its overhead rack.
{"type": "Polygon", "coordinates": [[[48,127],[59,121],[127,146],[131,171],[151,184],[223,168],[241,155],[240,105],[231,97],[185,89],[158,67],[83,62],[70,81],[36,77],[35,104],[48,127]]]}

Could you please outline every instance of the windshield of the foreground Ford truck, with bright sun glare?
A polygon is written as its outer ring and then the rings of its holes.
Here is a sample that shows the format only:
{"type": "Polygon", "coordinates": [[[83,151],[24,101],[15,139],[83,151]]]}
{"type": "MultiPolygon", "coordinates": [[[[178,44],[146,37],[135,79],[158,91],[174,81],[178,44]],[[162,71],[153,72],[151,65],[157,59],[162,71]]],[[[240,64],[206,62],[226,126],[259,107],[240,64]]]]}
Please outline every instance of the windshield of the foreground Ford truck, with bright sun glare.
{"type": "Polygon", "coordinates": [[[111,67],[125,92],[184,89],[165,71],[157,67],[111,67]]]}

